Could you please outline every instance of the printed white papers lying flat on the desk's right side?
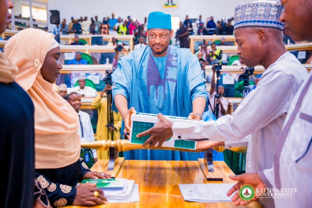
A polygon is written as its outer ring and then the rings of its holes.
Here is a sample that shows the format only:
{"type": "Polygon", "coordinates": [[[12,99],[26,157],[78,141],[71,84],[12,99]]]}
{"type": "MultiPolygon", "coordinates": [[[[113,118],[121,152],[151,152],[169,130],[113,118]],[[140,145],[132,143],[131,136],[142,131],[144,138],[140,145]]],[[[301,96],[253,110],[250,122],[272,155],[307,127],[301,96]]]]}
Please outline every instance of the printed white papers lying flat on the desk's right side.
{"type": "Polygon", "coordinates": [[[231,201],[227,196],[235,183],[204,183],[204,184],[179,184],[181,194],[185,201],[196,202],[226,202],[231,201]]]}

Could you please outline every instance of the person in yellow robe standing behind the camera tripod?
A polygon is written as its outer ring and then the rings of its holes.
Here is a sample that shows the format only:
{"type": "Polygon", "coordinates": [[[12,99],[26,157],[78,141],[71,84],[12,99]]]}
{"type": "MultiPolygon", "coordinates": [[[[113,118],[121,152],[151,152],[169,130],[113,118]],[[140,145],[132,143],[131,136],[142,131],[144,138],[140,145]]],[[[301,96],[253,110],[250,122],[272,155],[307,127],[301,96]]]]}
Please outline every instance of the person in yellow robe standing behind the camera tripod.
{"type": "MultiPolygon", "coordinates": [[[[97,140],[116,140],[120,139],[120,128],[121,128],[121,122],[122,117],[120,113],[116,113],[113,111],[114,116],[114,126],[112,127],[106,127],[107,124],[107,100],[102,99],[103,95],[108,91],[111,90],[111,85],[105,85],[105,88],[100,92],[99,95],[97,95],[91,106],[98,109],[98,122],[96,125],[96,135],[97,140]],[[111,132],[113,132],[113,138],[111,136],[111,132]]],[[[105,94],[106,95],[106,94],[105,94]]],[[[108,159],[108,151],[99,151],[98,150],[98,158],[99,159],[108,159]]]]}

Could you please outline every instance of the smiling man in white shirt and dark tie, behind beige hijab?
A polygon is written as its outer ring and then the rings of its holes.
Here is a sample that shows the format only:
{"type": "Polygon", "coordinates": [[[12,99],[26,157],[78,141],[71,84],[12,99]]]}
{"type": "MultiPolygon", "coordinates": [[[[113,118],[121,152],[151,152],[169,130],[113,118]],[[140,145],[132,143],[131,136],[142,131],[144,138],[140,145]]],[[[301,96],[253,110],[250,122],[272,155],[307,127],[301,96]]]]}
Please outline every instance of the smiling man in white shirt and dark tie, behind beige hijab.
{"type": "MultiPolygon", "coordinates": [[[[89,114],[83,111],[80,111],[81,96],[77,92],[71,92],[67,97],[67,102],[74,108],[74,110],[78,113],[78,116],[79,116],[80,125],[78,128],[78,135],[80,138],[80,142],[95,141],[90,116],[89,114]]],[[[92,164],[93,162],[97,161],[97,154],[96,154],[96,150],[92,149],[91,151],[92,151],[92,156],[93,156],[93,161],[91,161],[91,164],[92,164]]],[[[85,150],[81,149],[81,152],[85,152],[85,150]]],[[[90,161],[89,156],[86,157],[85,154],[83,154],[82,158],[85,159],[86,164],[89,163],[90,161]]]]}

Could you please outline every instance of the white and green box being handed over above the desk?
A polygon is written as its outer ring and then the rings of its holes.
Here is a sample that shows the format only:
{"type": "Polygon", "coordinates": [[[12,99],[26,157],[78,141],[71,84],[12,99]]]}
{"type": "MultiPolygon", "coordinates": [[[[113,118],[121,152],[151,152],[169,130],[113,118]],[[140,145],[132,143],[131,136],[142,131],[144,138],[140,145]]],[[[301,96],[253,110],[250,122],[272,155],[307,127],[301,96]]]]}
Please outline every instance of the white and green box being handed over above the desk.
{"type": "MultiPolygon", "coordinates": [[[[171,122],[196,122],[186,117],[178,116],[165,116],[171,122]]],[[[150,113],[136,113],[131,115],[131,129],[130,129],[130,143],[143,144],[150,135],[137,138],[136,135],[143,131],[146,131],[158,123],[156,114],[150,113]]],[[[196,141],[173,139],[172,137],[166,140],[162,146],[165,147],[177,147],[184,149],[196,149],[196,141]]]]}

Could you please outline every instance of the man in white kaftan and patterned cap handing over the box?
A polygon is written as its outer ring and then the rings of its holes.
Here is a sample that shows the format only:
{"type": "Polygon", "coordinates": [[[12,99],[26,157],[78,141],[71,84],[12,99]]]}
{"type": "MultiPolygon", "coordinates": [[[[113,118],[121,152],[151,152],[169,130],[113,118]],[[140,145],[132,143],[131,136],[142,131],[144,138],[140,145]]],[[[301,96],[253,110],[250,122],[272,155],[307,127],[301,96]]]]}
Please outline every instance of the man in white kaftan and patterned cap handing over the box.
{"type": "MultiPolygon", "coordinates": [[[[158,115],[160,122],[156,126],[137,135],[151,135],[143,147],[152,141],[150,147],[156,143],[161,146],[163,141],[173,136],[175,139],[207,138],[207,148],[233,148],[241,146],[238,141],[251,134],[246,154],[246,173],[271,168],[290,102],[308,75],[305,67],[285,48],[282,39],[284,25],[279,21],[281,12],[281,4],[273,1],[251,2],[235,8],[235,40],[240,62],[248,67],[262,65],[266,71],[256,89],[244,98],[232,115],[222,116],[217,121],[173,123],[158,115]],[[274,15],[260,15],[256,9],[258,7],[274,7],[276,10],[274,15]],[[247,8],[259,21],[246,21],[249,13],[247,15],[244,9],[247,8]],[[263,18],[276,24],[266,23],[262,21],[263,18]],[[227,140],[230,144],[222,142],[227,140]]],[[[193,114],[189,116],[193,117],[193,114]]],[[[269,198],[264,200],[263,204],[267,205],[269,198]]]]}

